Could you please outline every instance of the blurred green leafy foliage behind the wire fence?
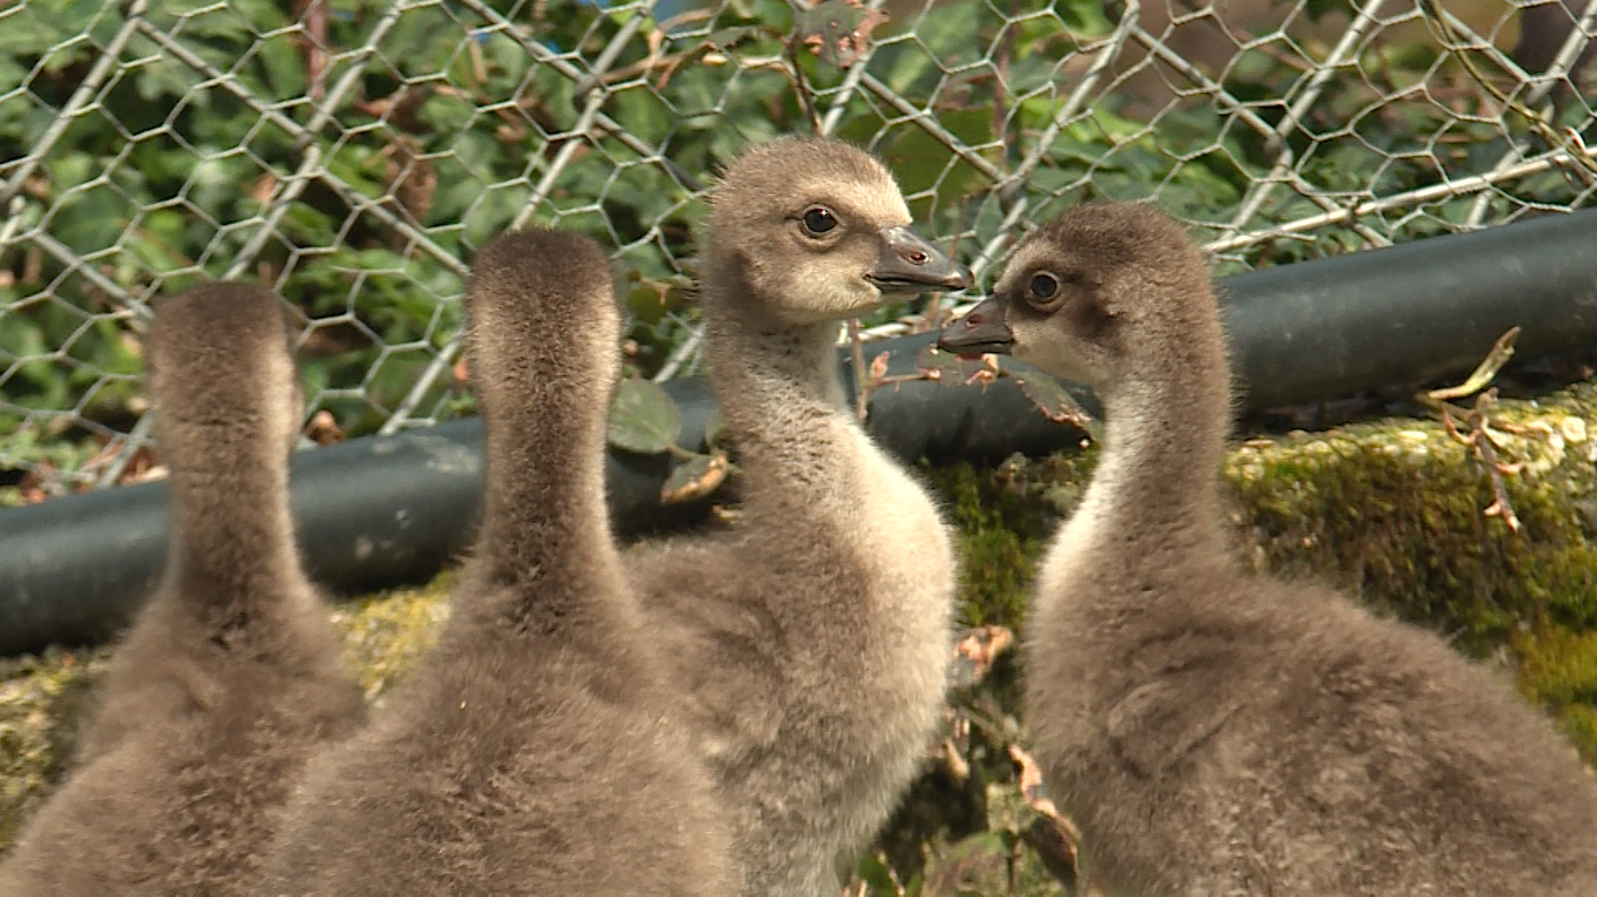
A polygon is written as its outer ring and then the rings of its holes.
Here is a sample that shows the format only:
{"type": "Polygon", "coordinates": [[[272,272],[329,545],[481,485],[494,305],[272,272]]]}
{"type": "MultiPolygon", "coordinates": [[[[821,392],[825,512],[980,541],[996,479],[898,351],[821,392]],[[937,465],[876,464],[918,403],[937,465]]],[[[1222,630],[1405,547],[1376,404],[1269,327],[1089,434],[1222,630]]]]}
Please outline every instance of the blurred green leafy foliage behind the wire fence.
{"type": "MultiPolygon", "coordinates": [[[[6,222],[13,238],[0,243],[0,431],[27,421],[40,444],[81,437],[85,426],[125,429],[142,412],[144,303],[240,259],[243,276],[271,284],[310,322],[302,362],[316,407],[351,436],[375,429],[457,332],[454,298],[474,247],[516,220],[554,166],[530,220],[616,247],[632,313],[629,370],[652,375],[696,314],[699,187],[749,142],[808,128],[784,62],[794,27],[784,0],[727,0],[664,22],[580,0],[145,0],[129,30],[134,6],[26,0],[0,10],[0,177],[16,177],[64,128],[22,182],[18,220],[6,222]],[[596,128],[561,161],[586,94],[549,59],[586,73],[629,27],[599,94],[621,132],[596,128]],[[91,101],[61,118],[123,37],[91,101]],[[281,219],[264,230],[271,214],[281,219]]],[[[1311,13],[1337,8],[1316,0],[1311,13]]],[[[1075,88],[1065,78],[1078,77],[1067,64],[1096,53],[1113,27],[1097,0],[1036,10],[952,0],[877,29],[870,75],[926,110],[931,129],[878,93],[845,99],[850,73],[802,45],[794,57],[822,115],[845,104],[837,132],[888,158],[923,227],[960,254],[992,241],[1020,195],[1024,220],[1062,203],[1153,195],[1204,236],[1222,233],[1203,225],[1230,225],[1279,158],[1230,101],[1172,105],[1150,124],[1116,112],[1105,78],[1024,184],[998,190],[984,174],[1012,171],[1054,128],[1075,88]]],[[[1469,117],[1479,97],[1381,99],[1437,88],[1437,53],[1369,41],[1287,132],[1294,172],[1359,198],[1490,168],[1506,140],[1498,117],[1469,117]]],[[[1241,53],[1217,77],[1274,124],[1305,65],[1274,45],[1241,53]]],[[[1493,196],[1485,220],[1527,198],[1576,196],[1557,172],[1512,192],[1493,196]]],[[[1469,196],[1448,198],[1377,230],[1450,230],[1471,207],[1469,196]]],[[[1284,187],[1236,227],[1322,211],[1284,187]]],[[[1322,228],[1225,255],[1222,270],[1359,246],[1351,230],[1322,228]]],[[[866,324],[913,310],[896,303],[866,324]]],[[[447,373],[423,393],[420,417],[470,409],[447,373]]]]}

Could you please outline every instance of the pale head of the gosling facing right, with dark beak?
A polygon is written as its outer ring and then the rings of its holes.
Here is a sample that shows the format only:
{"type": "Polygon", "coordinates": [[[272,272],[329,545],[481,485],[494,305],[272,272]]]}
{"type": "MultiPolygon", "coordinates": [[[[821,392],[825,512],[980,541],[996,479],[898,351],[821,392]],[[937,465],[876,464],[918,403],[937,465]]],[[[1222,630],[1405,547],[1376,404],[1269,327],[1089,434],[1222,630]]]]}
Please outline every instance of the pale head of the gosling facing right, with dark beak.
{"type": "MultiPolygon", "coordinates": [[[[784,324],[842,321],[893,295],[965,289],[971,270],[917,235],[893,174],[824,137],[783,137],[727,168],[711,195],[709,262],[784,324]]],[[[751,308],[752,310],[752,308],[751,308]]]]}

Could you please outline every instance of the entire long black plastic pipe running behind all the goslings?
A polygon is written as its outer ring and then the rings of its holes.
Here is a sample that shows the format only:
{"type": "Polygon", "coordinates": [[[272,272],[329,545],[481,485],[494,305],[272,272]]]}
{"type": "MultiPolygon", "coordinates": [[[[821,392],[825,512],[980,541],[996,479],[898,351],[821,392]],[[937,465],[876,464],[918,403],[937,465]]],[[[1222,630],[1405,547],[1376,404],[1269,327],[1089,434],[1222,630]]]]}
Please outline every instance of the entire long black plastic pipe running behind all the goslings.
{"type": "MultiPolygon", "coordinates": [[[[1522,359],[1584,350],[1597,346],[1597,209],[1249,271],[1219,287],[1249,410],[1466,372],[1512,326],[1524,329],[1522,359]]],[[[934,338],[872,343],[867,358],[888,351],[890,373],[909,372],[934,338]]],[[[704,381],[666,389],[684,412],[682,442],[701,445],[714,412],[704,381]]],[[[1038,415],[1008,380],[985,394],[925,381],[882,389],[870,429],[898,456],[934,463],[1036,455],[1081,436],[1038,415]]],[[[660,506],[671,464],[610,455],[624,536],[703,514],[703,503],[660,506]]],[[[339,592],[425,579],[471,541],[481,488],[478,420],[300,452],[294,516],[307,565],[339,592]]],[[[105,638],[149,594],[164,551],[163,484],[0,511],[0,654],[105,638]]]]}

